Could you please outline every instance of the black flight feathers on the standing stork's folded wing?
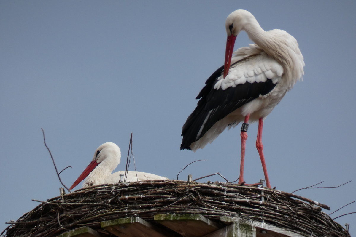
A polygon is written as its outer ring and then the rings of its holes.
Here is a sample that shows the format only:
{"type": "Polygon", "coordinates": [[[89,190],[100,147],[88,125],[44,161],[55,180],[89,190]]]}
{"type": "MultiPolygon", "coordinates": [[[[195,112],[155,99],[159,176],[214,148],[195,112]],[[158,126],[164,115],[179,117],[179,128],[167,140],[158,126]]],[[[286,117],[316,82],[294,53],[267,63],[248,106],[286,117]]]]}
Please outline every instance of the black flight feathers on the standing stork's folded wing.
{"type": "Polygon", "coordinates": [[[221,66],[206,80],[206,85],[196,97],[196,99],[200,100],[193,113],[189,115],[183,125],[183,141],[182,145],[180,145],[180,150],[190,150],[190,145],[204,136],[206,131],[220,119],[223,119],[235,109],[252,101],[258,96],[266,95],[277,85],[273,84],[271,79],[267,79],[266,82],[246,82],[236,85],[236,87],[228,87],[226,90],[222,90],[221,88],[216,90],[214,89],[214,85],[223,69],[224,66],[221,66]],[[209,118],[206,120],[201,134],[198,136],[199,130],[208,115],[209,118]]]}

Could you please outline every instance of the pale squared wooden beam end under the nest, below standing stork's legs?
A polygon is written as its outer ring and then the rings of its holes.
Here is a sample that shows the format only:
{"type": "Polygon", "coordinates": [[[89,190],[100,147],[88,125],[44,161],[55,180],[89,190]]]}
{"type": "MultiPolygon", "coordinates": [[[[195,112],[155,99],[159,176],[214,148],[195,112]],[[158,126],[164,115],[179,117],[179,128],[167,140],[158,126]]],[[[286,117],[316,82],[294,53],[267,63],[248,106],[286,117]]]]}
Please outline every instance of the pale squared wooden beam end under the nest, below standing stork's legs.
{"type": "Polygon", "coordinates": [[[232,223],[204,237],[256,237],[256,228],[250,225],[232,223]]]}

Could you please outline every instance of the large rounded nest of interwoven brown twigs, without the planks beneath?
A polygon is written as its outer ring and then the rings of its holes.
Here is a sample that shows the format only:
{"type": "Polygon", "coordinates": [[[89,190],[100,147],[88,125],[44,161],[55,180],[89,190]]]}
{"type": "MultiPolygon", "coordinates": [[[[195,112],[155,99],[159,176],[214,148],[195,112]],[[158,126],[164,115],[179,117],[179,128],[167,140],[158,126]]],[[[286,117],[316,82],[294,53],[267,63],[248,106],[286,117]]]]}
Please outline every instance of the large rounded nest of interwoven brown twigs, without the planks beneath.
{"type": "Polygon", "coordinates": [[[2,236],[57,236],[77,227],[138,216],[152,222],[157,214],[200,214],[264,221],[304,236],[349,237],[321,207],[328,206],[275,189],[237,184],[148,181],[93,186],[41,201],[7,227],[2,236]]]}

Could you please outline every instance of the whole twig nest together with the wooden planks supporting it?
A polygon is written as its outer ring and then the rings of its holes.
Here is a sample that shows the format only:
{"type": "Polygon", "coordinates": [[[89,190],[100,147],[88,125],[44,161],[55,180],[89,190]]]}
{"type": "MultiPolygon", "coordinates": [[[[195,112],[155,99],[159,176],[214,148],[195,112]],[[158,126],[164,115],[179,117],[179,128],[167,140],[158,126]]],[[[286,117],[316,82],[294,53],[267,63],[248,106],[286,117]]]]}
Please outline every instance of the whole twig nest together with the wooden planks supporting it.
{"type": "Polygon", "coordinates": [[[275,189],[176,180],[93,186],[42,201],[4,237],[349,237],[328,206],[275,189]]]}

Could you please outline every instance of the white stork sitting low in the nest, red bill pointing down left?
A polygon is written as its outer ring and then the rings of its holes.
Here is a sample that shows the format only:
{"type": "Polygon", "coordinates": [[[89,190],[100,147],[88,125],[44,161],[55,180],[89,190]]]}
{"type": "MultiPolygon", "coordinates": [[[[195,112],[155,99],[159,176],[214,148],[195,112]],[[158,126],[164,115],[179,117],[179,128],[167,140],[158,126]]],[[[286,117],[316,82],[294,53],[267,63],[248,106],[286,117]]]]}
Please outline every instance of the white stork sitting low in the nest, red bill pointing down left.
{"type": "MultiPolygon", "coordinates": [[[[112,142],[101,144],[94,152],[93,161],[90,162],[87,168],[80,174],[79,178],[73,183],[69,190],[72,190],[82,180],[87,177],[83,183],[83,188],[92,185],[119,183],[121,180],[120,174],[125,174],[125,171],[111,173],[120,163],[121,151],[119,146],[112,142]]],[[[167,177],[158,176],[139,171],[128,171],[127,182],[168,179],[167,177]]]]}

